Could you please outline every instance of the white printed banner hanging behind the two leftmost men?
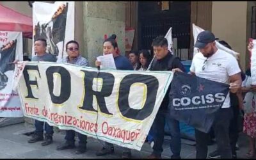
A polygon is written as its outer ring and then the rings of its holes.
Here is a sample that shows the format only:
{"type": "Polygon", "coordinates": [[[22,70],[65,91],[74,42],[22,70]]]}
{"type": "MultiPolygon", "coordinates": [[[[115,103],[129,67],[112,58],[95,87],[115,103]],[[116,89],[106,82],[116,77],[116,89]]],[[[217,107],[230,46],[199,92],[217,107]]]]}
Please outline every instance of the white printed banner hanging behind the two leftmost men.
{"type": "MultiPolygon", "coordinates": [[[[36,38],[47,40],[47,51],[58,61],[67,56],[65,44],[74,40],[75,2],[33,3],[33,43],[36,38]]],[[[34,45],[33,45],[34,46],[34,45]]],[[[32,56],[35,55],[32,47],[32,56]]]]}

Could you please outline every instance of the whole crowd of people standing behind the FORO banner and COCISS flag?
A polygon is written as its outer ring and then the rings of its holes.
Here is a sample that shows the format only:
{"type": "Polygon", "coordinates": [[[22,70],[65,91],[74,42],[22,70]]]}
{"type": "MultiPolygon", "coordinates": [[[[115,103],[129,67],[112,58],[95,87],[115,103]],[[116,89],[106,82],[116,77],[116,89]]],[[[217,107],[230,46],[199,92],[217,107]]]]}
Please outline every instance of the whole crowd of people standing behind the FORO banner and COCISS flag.
{"type": "MultiPolygon", "coordinates": [[[[250,140],[250,150],[248,157],[255,157],[255,137],[256,137],[256,106],[254,95],[256,95],[256,86],[252,85],[250,67],[245,74],[240,67],[239,60],[236,60],[230,53],[222,51],[216,47],[216,38],[211,31],[203,31],[196,38],[195,47],[200,52],[193,57],[189,74],[203,77],[212,81],[226,83],[230,85],[228,93],[221,109],[216,113],[212,131],[209,133],[201,132],[195,129],[196,138],[196,159],[207,158],[207,146],[211,140],[211,134],[214,135],[217,143],[216,151],[209,154],[210,158],[236,158],[236,144],[239,135],[237,118],[241,110],[244,111],[243,131],[250,140]]],[[[220,41],[222,45],[232,49],[225,41],[220,41]]],[[[35,53],[32,61],[56,61],[56,57],[46,53],[46,40],[40,38],[35,40],[35,53]]],[[[248,45],[251,51],[252,42],[248,45]]],[[[129,58],[122,56],[116,42],[116,35],[110,36],[102,44],[103,54],[113,54],[116,69],[118,70],[170,70],[173,72],[185,72],[179,58],[175,57],[168,50],[168,41],[163,36],[158,36],[152,42],[153,53],[147,49],[140,51],[131,51],[129,58]]],[[[88,60],[83,58],[79,52],[79,44],[75,40],[67,42],[65,45],[68,56],[63,58],[62,63],[71,63],[78,66],[90,66],[88,60]]],[[[95,66],[100,66],[100,61],[95,61],[95,66]]],[[[168,88],[168,92],[171,88],[168,88]]],[[[164,141],[164,125],[168,121],[171,131],[170,149],[172,158],[180,159],[180,150],[182,144],[180,140],[179,121],[170,117],[168,104],[170,102],[168,93],[166,93],[159,111],[157,111],[154,123],[148,133],[147,141],[152,144],[152,154],[150,159],[161,158],[164,141]]],[[[52,126],[46,122],[35,120],[35,134],[28,141],[35,143],[43,141],[42,145],[50,145],[53,136],[52,126]],[[45,136],[44,136],[45,131],[45,136]]],[[[59,145],[57,150],[75,148],[76,132],[66,131],[65,142],[59,145]]],[[[87,136],[78,133],[79,145],[76,154],[86,152],[87,136]]],[[[113,144],[104,142],[102,148],[96,152],[97,156],[113,154],[115,152],[113,144]]],[[[123,148],[122,158],[131,158],[131,149],[123,148]]]]}

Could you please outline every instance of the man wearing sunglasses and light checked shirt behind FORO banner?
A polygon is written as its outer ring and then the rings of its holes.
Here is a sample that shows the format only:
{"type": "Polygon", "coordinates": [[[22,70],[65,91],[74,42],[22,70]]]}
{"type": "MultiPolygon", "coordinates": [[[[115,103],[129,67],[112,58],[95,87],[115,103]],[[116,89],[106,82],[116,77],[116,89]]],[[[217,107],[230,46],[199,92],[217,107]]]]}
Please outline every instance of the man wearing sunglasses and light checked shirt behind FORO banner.
{"type": "MultiPolygon", "coordinates": [[[[75,40],[70,40],[66,44],[66,51],[68,56],[63,58],[62,63],[70,63],[79,66],[89,66],[88,60],[83,58],[79,53],[79,44],[75,40]]],[[[56,150],[65,150],[75,148],[75,131],[66,130],[65,143],[62,143],[56,150]]],[[[81,133],[77,133],[79,138],[79,145],[76,150],[76,154],[83,154],[86,152],[87,136],[81,133]]]]}

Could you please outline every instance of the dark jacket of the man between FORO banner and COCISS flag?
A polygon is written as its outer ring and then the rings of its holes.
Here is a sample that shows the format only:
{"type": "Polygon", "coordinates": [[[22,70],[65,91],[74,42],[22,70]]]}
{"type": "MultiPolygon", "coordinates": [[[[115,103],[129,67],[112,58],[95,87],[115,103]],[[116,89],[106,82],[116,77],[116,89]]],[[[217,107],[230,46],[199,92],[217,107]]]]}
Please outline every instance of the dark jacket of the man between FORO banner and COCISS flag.
{"type": "MultiPolygon", "coordinates": [[[[173,68],[180,68],[180,70],[185,72],[185,68],[180,62],[179,58],[173,56],[171,52],[168,52],[168,54],[161,60],[157,60],[155,58],[149,70],[161,71],[161,70],[172,70],[173,68]]],[[[168,109],[170,87],[171,85],[169,86],[166,92],[166,95],[164,96],[163,102],[161,103],[159,110],[168,109]]]]}

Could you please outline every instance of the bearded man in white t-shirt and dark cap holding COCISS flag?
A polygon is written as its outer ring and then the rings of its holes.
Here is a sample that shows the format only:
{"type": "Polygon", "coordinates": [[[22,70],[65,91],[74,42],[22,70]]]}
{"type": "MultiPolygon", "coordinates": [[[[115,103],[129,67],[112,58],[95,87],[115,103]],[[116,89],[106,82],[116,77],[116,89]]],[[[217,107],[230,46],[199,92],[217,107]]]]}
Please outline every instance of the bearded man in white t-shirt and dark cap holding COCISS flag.
{"type": "MultiPolygon", "coordinates": [[[[195,54],[190,74],[220,83],[230,84],[230,92],[236,93],[241,88],[241,70],[234,56],[216,47],[215,36],[211,31],[203,31],[196,38],[195,47],[200,52],[195,54]]],[[[218,145],[218,152],[223,158],[232,158],[228,127],[233,113],[230,108],[229,93],[221,109],[216,113],[214,134],[218,145]]],[[[207,157],[207,144],[209,134],[195,131],[196,136],[196,159],[207,157]]]]}

